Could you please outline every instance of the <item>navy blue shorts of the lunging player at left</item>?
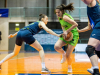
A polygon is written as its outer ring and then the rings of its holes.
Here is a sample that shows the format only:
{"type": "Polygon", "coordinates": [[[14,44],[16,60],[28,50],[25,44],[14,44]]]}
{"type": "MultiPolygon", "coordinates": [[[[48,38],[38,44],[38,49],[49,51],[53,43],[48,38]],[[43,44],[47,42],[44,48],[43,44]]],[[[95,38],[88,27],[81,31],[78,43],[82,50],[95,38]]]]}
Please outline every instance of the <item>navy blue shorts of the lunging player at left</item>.
{"type": "Polygon", "coordinates": [[[29,30],[20,30],[16,36],[16,44],[21,46],[22,43],[26,42],[27,44],[32,44],[35,42],[35,38],[29,30]]]}

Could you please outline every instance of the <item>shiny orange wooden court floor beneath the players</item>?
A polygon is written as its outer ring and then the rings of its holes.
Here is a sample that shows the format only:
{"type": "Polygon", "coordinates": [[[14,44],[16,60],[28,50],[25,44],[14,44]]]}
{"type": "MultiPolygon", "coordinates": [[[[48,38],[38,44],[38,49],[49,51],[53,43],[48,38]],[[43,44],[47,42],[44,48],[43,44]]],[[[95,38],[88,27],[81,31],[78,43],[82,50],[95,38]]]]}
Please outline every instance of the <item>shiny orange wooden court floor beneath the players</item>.
{"type": "MultiPolygon", "coordinates": [[[[0,59],[5,57],[7,53],[1,54],[0,59]]],[[[46,67],[53,74],[67,75],[67,62],[61,64],[61,54],[59,53],[45,53],[46,67]]],[[[72,54],[72,74],[89,74],[87,69],[91,67],[90,62],[76,62],[75,53],[72,54]]],[[[19,53],[18,56],[2,64],[0,75],[50,75],[41,73],[41,62],[38,53],[19,53]]],[[[100,67],[100,63],[99,63],[100,67]]],[[[72,75],[68,74],[68,75],[72,75]]]]}

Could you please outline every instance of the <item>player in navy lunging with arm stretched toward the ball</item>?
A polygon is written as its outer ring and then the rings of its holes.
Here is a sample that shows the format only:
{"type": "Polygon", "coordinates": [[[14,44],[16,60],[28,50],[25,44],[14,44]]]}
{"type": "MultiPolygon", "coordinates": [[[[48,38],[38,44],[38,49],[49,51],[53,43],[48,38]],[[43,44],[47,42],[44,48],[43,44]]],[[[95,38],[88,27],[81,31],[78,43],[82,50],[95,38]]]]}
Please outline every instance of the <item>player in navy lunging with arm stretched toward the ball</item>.
{"type": "Polygon", "coordinates": [[[34,22],[29,24],[28,26],[25,26],[22,28],[20,31],[18,31],[15,34],[9,35],[9,38],[12,38],[16,35],[16,44],[14,51],[10,54],[8,54],[3,60],[0,61],[0,64],[3,62],[7,61],[8,59],[11,59],[12,57],[16,56],[22,46],[23,41],[29,44],[31,47],[35,48],[37,51],[39,51],[39,55],[41,58],[41,64],[42,64],[42,71],[41,72],[50,72],[46,67],[45,67],[45,60],[44,60],[44,50],[42,46],[39,44],[39,42],[33,37],[35,34],[37,34],[42,28],[57,37],[60,37],[60,35],[56,34],[53,32],[51,29],[49,29],[46,24],[48,22],[48,17],[44,14],[39,15],[39,21],[34,22]]]}

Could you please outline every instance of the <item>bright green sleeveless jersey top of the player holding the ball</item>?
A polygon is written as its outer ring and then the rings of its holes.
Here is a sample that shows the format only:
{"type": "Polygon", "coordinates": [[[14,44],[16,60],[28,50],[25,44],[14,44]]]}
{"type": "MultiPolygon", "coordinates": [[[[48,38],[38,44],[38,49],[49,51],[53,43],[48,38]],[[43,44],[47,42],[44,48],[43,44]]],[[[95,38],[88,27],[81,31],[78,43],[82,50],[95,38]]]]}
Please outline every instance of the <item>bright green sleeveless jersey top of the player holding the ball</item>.
{"type": "MultiPolygon", "coordinates": [[[[70,19],[74,20],[71,15],[69,15],[67,13],[64,13],[63,16],[64,15],[67,15],[70,19]]],[[[72,26],[72,24],[64,21],[63,19],[60,19],[60,17],[59,17],[59,22],[60,22],[61,26],[64,28],[64,30],[67,30],[67,29],[69,29],[72,26]]],[[[77,27],[72,29],[71,32],[73,33],[73,35],[79,35],[79,33],[77,31],[77,27]]]]}

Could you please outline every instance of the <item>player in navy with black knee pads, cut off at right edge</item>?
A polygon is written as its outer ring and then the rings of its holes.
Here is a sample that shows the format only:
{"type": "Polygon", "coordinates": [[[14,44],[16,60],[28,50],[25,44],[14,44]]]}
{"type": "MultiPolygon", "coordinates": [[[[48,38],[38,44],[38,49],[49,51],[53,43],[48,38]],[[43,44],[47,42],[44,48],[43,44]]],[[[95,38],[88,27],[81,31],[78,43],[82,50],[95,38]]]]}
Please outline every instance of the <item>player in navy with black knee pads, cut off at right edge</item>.
{"type": "Polygon", "coordinates": [[[100,58],[100,4],[99,0],[82,0],[87,5],[88,26],[79,30],[78,32],[85,32],[93,29],[88,45],[86,47],[86,53],[90,58],[92,69],[88,70],[93,75],[99,75],[98,57],[100,58]]]}

